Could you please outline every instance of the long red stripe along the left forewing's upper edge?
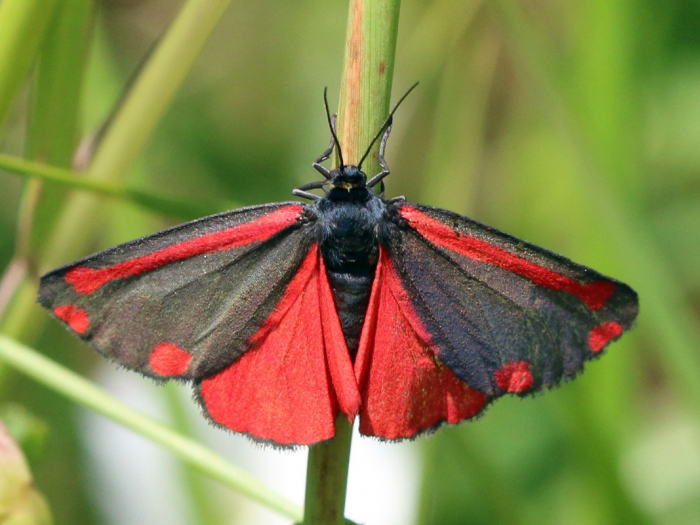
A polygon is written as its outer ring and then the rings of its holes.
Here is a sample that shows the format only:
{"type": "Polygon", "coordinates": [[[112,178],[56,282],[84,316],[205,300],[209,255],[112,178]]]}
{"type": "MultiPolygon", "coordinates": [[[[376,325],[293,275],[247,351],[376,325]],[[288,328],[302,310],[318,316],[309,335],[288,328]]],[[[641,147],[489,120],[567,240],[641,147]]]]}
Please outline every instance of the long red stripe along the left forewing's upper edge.
{"type": "Polygon", "coordinates": [[[115,279],[140,275],[195,255],[230,250],[252,242],[264,241],[294,223],[301,211],[300,205],[286,206],[252,222],[173,244],[157,252],[135,257],[107,268],[77,266],[66,272],[65,279],[68,284],[73,285],[76,292],[89,294],[115,279]]]}

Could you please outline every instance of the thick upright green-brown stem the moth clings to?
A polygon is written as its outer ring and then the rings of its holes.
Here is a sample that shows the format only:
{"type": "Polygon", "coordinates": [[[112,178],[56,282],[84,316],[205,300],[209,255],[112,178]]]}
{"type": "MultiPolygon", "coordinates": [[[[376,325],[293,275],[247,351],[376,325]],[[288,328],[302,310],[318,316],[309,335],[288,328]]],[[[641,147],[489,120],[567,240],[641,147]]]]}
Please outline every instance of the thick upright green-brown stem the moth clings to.
{"type": "MultiPolygon", "coordinates": [[[[400,0],[350,0],[338,139],[346,164],[355,164],[384,123],[391,101],[400,0]]],[[[363,164],[379,169],[378,146],[363,164]]],[[[309,449],[304,525],[341,525],[352,425],[340,416],[333,439],[309,449]]]]}

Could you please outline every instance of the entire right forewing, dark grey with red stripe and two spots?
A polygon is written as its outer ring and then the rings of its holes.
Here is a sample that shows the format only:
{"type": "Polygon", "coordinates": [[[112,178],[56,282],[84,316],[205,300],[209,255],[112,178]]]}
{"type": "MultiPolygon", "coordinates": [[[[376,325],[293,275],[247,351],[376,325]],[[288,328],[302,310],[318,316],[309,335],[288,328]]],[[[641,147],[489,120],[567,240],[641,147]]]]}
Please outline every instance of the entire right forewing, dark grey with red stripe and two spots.
{"type": "Polygon", "coordinates": [[[439,359],[489,397],[573,377],[629,329],[627,285],[459,215],[415,204],[387,250],[439,359]]]}

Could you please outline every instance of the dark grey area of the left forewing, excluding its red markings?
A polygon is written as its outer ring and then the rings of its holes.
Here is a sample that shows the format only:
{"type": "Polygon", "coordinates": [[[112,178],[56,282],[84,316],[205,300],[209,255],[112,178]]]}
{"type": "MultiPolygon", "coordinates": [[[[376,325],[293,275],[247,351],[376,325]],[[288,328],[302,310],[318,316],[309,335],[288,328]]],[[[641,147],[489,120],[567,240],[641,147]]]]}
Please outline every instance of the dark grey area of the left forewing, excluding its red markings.
{"type": "Polygon", "coordinates": [[[104,268],[173,244],[256,221],[286,206],[235,210],[111,248],[54,270],[41,280],[39,301],[54,310],[76,305],[89,318],[78,334],[100,353],[154,377],[151,352],[162,343],[191,355],[183,378],[220,370],[247,350],[247,340],[268,317],[312,243],[296,222],[265,240],[188,257],[139,275],[116,279],[89,294],[65,281],[76,266],[104,268]]]}

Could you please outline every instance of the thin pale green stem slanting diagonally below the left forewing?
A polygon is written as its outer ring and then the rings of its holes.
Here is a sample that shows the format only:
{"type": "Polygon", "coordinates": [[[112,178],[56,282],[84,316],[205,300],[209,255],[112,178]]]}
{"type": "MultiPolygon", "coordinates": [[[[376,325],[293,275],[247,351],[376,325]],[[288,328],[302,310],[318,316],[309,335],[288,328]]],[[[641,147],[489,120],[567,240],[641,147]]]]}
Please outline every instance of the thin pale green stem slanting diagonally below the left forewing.
{"type": "Polygon", "coordinates": [[[0,335],[0,359],[72,401],[103,414],[158,443],[206,475],[262,505],[291,519],[301,518],[302,511],[299,507],[275,494],[250,474],[231,465],[226,459],[196,441],[187,439],[162,423],[129,408],[102,388],[47,359],[35,350],[0,335]]]}

